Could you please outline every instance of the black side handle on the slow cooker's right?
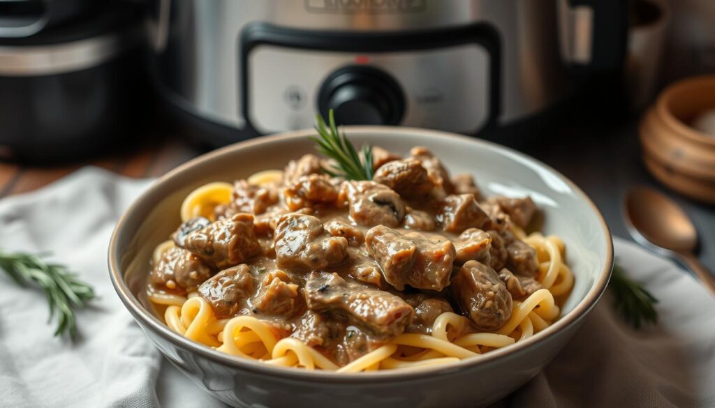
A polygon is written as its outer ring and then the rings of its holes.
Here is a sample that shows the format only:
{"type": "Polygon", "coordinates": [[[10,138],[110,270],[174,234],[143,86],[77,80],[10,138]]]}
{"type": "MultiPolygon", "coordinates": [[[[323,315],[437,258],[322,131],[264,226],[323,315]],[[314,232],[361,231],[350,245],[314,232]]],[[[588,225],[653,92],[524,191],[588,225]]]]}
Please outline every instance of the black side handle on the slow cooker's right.
{"type": "Polygon", "coordinates": [[[561,57],[587,74],[623,65],[628,35],[625,0],[558,0],[561,57]]]}

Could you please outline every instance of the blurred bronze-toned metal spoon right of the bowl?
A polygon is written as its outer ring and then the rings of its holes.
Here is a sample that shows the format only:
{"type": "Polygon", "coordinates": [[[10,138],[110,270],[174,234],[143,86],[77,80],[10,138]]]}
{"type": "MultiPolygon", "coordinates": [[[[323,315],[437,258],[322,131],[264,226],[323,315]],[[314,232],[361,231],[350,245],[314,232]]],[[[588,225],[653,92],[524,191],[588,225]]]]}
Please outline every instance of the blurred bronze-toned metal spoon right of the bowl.
{"type": "Polygon", "coordinates": [[[678,204],[654,189],[636,187],[626,194],[623,212],[628,232],[636,242],[678,259],[715,294],[715,277],[694,254],[698,232],[678,204]]]}

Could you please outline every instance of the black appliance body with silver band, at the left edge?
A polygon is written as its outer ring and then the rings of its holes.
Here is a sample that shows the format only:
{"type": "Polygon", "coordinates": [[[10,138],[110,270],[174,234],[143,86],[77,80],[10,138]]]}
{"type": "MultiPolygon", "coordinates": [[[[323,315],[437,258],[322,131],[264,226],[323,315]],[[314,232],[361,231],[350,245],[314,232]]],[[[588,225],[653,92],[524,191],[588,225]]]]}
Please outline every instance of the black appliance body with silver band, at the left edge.
{"type": "Polygon", "coordinates": [[[107,2],[28,36],[4,36],[0,19],[0,159],[85,159],[142,136],[152,109],[142,16],[107,2]]]}

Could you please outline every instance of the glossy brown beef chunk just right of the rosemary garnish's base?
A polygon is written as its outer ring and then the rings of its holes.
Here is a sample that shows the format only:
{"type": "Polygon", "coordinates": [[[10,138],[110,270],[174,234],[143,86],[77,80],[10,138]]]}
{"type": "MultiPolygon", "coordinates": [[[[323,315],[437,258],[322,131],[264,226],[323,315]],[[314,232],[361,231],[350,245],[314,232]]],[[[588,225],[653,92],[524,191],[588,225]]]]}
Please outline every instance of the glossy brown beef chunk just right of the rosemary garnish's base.
{"type": "Polygon", "coordinates": [[[430,195],[435,183],[427,170],[415,159],[390,161],[375,171],[373,181],[390,187],[406,199],[420,199],[430,195]]]}

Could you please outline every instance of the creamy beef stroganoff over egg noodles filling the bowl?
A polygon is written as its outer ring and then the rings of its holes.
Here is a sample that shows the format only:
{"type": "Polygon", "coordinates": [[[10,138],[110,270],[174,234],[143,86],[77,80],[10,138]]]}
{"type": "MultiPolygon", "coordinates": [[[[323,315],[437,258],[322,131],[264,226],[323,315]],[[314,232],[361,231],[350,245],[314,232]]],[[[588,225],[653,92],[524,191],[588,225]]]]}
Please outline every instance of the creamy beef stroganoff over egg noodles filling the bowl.
{"type": "Polygon", "coordinates": [[[362,372],[479,357],[558,318],[573,274],[561,239],[525,233],[529,197],[484,197],[424,147],[372,153],[369,181],[306,154],[189,194],[147,282],[167,326],[265,364],[362,372]]]}

